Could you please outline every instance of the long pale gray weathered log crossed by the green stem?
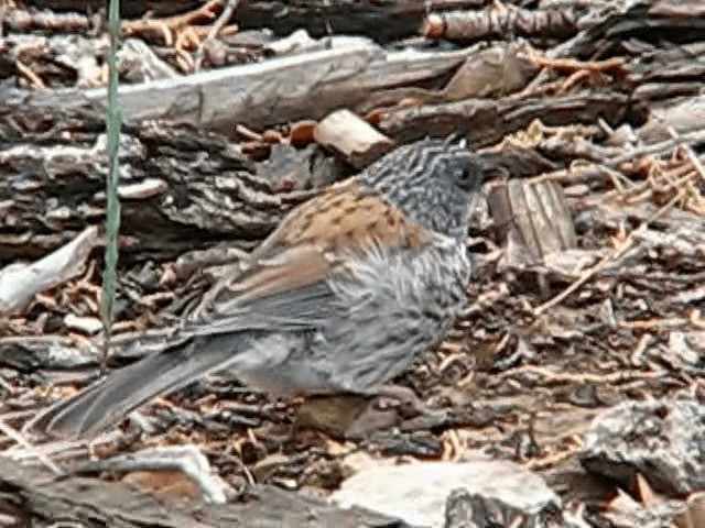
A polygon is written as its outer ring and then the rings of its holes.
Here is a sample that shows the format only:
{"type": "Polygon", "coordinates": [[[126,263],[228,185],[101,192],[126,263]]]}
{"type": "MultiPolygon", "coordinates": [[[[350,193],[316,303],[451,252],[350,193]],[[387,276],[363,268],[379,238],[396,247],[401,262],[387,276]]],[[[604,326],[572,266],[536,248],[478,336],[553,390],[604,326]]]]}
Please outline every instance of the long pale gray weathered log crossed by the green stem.
{"type": "MultiPolygon", "coordinates": [[[[332,48],[202,72],[176,79],[120,86],[126,123],[172,120],[232,133],[236,123],[264,129],[362,103],[371,94],[443,77],[470,52],[390,52],[364,38],[332,40],[332,48]],[[159,97],[154,97],[159,94],[159,97]]],[[[0,90],[0,112],[105,114],[105,88],[28,92],[0,90]]]]}

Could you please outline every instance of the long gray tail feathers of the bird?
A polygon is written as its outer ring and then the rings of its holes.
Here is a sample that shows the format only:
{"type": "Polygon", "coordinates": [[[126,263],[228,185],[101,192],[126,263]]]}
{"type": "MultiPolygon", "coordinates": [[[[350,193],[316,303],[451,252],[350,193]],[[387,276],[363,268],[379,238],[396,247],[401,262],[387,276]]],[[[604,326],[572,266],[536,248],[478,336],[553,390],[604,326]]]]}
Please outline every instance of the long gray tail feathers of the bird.
{"type": "Polygon", "coordinates": [[[154,396],[225,367],[241,350],[243,339],[232,333],[189,338],[57,403],[25,430],[67,439],[96,435],[154,396]]]}

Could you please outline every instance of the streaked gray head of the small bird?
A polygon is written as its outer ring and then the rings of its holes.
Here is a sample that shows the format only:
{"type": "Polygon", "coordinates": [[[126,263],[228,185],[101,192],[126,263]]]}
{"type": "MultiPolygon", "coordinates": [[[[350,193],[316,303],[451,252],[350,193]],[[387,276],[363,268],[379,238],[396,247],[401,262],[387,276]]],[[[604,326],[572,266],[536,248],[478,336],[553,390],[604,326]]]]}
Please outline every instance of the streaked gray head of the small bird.
{"type": "Polygon", "coordinates": [[[466,146],[426,139],[387,154],[359,177],[415,223],[463,239],[485,172],[482,160],[466,146]]]}

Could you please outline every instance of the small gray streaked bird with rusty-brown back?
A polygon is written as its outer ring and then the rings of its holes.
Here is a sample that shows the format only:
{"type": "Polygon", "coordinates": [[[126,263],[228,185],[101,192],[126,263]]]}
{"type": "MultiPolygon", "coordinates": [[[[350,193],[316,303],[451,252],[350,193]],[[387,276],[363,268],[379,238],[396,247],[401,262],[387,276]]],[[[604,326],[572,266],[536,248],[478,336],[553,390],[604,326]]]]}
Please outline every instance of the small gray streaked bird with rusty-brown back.
{"type": "Polygon", "coordinates": [[[289,211],[163,350],[25,429],[94,437],[214,371],[276,397],[401,394],[391,381],[446,336],[467,301],[468,219],[486,172],[453,139],[397,147],[289,211]]]}

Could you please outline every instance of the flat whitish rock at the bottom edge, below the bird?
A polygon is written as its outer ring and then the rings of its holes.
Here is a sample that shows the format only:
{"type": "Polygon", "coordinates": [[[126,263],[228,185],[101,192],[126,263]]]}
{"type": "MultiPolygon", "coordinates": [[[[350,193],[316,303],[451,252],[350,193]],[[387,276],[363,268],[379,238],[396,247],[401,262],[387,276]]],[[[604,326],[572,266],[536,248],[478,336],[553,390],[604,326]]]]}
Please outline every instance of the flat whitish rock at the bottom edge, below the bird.
{"type": "Polygon", "coordinates": [[[413,526],[563,526],[558,496],[539,475],[505,461],[375,466],[345,481],[332,499],[413,526]]]}

